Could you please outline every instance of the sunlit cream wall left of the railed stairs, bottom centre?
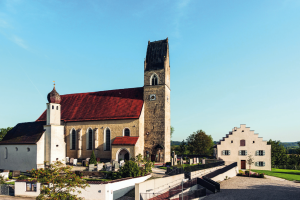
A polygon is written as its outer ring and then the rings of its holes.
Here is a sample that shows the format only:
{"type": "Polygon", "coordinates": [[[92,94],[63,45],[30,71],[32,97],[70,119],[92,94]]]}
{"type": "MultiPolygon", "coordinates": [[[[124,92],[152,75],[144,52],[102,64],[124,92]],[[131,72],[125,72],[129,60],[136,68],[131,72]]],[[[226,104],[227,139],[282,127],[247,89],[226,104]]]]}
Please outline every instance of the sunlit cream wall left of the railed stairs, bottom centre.
{"type": "Polygon", "coordinates": [[[135,200],[139,199],[139,193],[156,193],[170,185],[177,184],[184,179],[184,174],[172,175],[164,178],[156,178],[135,184],[135,200]]]}

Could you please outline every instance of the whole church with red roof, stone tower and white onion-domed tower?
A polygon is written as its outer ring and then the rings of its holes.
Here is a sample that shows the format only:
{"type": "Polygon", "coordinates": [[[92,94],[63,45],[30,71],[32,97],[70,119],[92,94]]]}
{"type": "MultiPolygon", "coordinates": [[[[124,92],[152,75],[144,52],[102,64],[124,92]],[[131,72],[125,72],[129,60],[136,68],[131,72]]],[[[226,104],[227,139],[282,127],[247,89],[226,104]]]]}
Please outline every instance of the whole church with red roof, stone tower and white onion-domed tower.
{"type": "Polygon", "coordinates": [[[43,161],[128,160],[139,153],[170,161],[168,38],[148,41],[142,87],[59,95],[55,84],[46,110],[16,124],[0,141],[0,169],[31,170],[43,161]]]}

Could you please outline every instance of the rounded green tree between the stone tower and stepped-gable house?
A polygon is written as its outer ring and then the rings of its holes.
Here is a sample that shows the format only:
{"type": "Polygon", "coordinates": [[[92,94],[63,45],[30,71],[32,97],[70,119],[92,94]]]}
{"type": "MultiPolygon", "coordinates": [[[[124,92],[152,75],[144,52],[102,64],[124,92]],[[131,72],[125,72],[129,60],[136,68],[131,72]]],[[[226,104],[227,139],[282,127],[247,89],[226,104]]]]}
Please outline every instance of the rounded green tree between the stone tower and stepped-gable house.
{"type": "Polygon", "coordinates": [[[207,135],[203,130],[197,130],[186,138],[187,149],[191,154],[210,155],[213,149],[211,135],[207,135]]]}

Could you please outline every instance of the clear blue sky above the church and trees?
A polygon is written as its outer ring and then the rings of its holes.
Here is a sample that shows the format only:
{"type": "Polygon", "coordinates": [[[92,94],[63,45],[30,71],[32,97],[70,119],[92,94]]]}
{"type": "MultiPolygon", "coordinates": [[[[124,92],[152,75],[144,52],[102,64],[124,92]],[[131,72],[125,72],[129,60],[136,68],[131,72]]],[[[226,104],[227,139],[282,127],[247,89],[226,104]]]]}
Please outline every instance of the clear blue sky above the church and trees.
{"type": "Polygon", "coordinates": [[[143,86],[148,40],[169,39],[174,141],[246,124],[300,140],[299,0],[0,0],[0,128],[59,94],[143,86]]]}

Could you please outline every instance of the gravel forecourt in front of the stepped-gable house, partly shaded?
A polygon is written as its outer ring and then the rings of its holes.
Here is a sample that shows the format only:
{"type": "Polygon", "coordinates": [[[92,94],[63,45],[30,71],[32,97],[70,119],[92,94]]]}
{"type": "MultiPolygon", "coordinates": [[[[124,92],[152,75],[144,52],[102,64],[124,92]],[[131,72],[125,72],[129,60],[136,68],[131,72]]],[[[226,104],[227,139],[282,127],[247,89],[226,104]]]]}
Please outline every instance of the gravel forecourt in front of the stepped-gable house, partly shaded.
{"type": "Polygon", "coordinates": [[[205,200],[300,199],[300,183],[269,178],[234,176],[220,182],[221,192],[205,200]]]}

